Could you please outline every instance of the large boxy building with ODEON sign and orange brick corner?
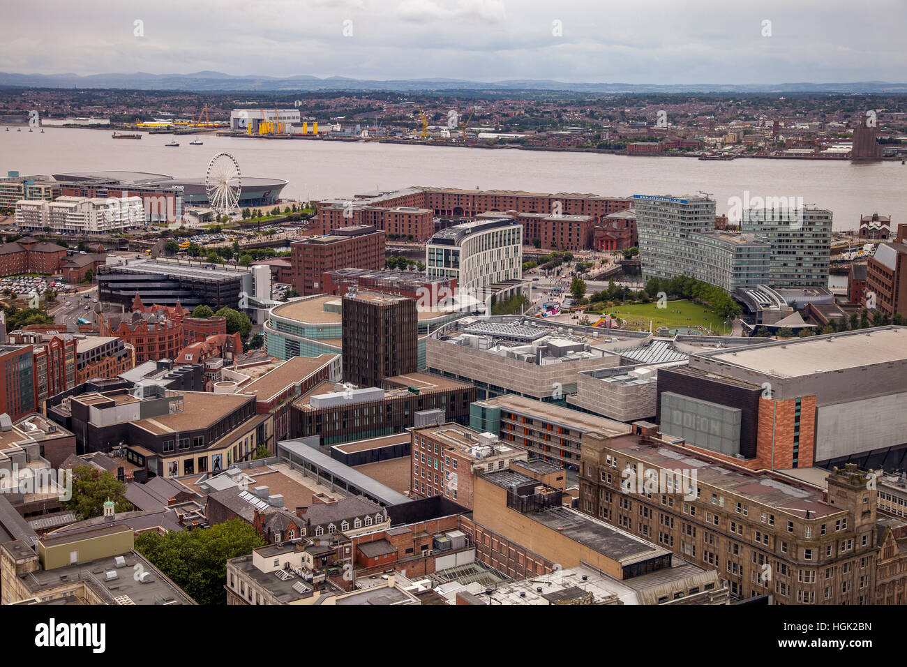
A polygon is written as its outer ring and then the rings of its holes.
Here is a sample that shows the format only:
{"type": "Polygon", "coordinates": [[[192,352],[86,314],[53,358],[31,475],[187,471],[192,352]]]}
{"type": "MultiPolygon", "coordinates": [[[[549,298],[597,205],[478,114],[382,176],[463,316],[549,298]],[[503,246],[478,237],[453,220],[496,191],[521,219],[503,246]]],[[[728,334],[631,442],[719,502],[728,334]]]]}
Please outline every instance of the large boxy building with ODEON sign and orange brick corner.
{"type": "Polygon", "coordinates": [[[658,370],[664,436],[738,466],[856,463],[907,456],[907,327],[880,327],[689,355],[658,370]]]}

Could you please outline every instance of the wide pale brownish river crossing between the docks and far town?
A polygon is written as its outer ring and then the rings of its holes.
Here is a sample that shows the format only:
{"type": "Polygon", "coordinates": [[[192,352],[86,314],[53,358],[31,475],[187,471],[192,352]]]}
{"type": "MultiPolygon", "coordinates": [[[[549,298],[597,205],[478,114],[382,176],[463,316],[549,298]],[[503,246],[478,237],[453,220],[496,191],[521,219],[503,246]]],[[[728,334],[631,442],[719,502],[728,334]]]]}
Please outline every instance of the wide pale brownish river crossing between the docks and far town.
{"type": "Polygon", "coordinates": [[[898,162],[647,158],[595,153],[482,150],[366,142],[276,141],[203,136],[165,148],[170,134],[141,141],[113,140],[111,131],[45,128],[0,131],[0,170],[22,174],[123,170],[199,177],[215,152],[227,151],[247,176],[289,181],[284,196],[300,200],[345,197],[375,189],[434,185],[482,190],[593,192],[609,196],[715,195],[728,199],[803,197],[834,212],[834,229],[855,229],[861,213],[903,221],[907,166],[898,162]]]}

